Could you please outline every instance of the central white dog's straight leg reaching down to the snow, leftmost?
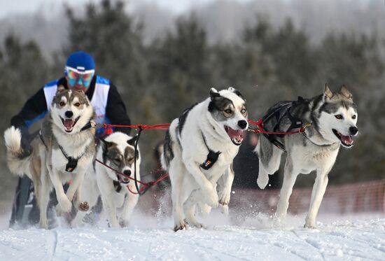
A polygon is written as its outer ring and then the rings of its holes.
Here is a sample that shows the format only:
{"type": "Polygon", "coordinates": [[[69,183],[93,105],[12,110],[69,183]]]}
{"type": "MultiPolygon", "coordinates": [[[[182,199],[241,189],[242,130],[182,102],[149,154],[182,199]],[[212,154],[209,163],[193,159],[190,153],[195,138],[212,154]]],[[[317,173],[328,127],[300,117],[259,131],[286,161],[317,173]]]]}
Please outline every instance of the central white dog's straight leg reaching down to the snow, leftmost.
{"type": "Polygon", "coordinates": [[[186,174],[186,169],[182,166],[182,162],[177,162],[176,159],[170,162],[169,177],[171,181],[172,194],[172,212],[174,216],[174,231],[186,229],[186,222],[183,213],[182,200],[182,185],[183,175],[186,174]]]}

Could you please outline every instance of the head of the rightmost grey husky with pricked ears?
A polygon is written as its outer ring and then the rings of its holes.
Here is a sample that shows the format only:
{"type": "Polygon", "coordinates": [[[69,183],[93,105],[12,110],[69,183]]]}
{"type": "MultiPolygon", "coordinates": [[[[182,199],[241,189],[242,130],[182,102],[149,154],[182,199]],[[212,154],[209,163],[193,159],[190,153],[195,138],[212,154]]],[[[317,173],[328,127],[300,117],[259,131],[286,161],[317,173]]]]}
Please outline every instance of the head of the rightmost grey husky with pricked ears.
{"type": "Polygon", "coordinates": [[[338,93],[332,93],[325,85],[324,104],[320,108],[320,132],[325,139],[339,142],[345,148],[353,146],[353,136],[358,134],[358,115],[352,95],[342,86],[338,93]]]}

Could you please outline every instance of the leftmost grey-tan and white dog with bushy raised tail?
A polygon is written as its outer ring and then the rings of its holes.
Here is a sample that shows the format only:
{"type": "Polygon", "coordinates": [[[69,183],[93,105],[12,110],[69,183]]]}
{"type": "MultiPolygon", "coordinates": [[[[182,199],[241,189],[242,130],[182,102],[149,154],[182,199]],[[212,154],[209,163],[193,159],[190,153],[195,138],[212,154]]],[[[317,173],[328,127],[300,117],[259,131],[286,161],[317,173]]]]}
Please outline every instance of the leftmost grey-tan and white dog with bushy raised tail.
{"type": "Polygon", "coordinates": [[[52,185],[59,202],[58,215],[71,211],[73,197],[76,209],[88,209],[87,202],[81,202],[80,198],[85,171],[95,153],[93,118],[93,108],[83,91],[59,86],[41,135],[31,141],[31,155],[20,156],[20,129],[10,127],[4,133],[8,167],[13,174],[27,174],[34,182],[43,228],[48,228],[46,213],[52,185]],[[63,184],[69,181],[65,193],[63,184]]]}

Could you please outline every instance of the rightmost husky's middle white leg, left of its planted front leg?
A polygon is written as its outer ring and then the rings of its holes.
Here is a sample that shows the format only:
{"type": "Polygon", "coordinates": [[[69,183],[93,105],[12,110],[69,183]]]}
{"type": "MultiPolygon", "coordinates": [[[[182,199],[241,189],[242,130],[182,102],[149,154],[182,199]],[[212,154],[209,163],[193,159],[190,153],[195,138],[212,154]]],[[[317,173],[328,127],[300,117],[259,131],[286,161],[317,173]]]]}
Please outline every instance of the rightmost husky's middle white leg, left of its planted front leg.
{"type": "Polygon", "coordinates": [[[297,173],[293,171],[293,164],[289,159],[289,156],[286,160],[285,164],[285,173],[283,176],[283,184],[281,188],[281,192],[279,194],[279,202],[276,206],[276,217],[282,218],[286,216],[288,211],[288,200],[290,198],[291,192],[293,192],[293,186],[295,180],[297,179],[297,173]]]}

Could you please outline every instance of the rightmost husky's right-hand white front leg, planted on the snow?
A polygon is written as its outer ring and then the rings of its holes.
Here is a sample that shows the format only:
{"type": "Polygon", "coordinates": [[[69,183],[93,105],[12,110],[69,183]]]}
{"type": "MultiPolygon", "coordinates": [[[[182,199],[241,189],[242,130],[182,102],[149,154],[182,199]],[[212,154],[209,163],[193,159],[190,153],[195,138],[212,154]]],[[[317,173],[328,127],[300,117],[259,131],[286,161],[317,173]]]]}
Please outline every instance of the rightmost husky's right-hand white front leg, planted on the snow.
{"type": "Polygon", "coordinates": [[[313,191],[311,192],[309,213],[307,213],[304,227],[316,227],[316,216],[318,214],[319,206],[321,206],[321,202],[323,199],[323,195],[325,194],[328,181],[328,172],[325,173],[317,171],[316,181],[313,185],[313,191]]]}

